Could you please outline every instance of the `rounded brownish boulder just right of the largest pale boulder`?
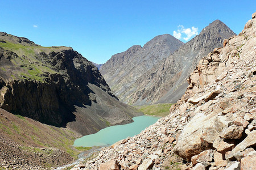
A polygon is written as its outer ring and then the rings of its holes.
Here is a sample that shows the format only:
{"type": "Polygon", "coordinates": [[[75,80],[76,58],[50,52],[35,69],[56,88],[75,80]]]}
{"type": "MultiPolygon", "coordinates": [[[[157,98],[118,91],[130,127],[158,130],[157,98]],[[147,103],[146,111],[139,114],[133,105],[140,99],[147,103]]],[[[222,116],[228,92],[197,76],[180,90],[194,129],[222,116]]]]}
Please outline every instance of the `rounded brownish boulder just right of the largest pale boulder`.
{"type": "Polygon", "coordinates": [[[220,137],[224,139],[240,139],[242,137],[243,128],[241,126],[229,126],[221,131],[220,137]]]}

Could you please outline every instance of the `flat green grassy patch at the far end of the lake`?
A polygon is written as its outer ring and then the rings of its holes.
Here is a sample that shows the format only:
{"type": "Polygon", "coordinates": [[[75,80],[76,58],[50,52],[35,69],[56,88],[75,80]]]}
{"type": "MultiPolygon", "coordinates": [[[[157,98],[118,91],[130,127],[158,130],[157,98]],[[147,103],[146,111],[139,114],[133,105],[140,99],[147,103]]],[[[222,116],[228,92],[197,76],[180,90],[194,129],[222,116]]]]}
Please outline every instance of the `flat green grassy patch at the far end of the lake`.
{"type": "Polygon", "coordinates": [[[172,104],[170,103],[151,104],[151,105],[135,106],[135,108],[139,109],[139,111],[143,112],[146,115],[164,117],[170,113],[169,109],[171,105],[172,104]]]}

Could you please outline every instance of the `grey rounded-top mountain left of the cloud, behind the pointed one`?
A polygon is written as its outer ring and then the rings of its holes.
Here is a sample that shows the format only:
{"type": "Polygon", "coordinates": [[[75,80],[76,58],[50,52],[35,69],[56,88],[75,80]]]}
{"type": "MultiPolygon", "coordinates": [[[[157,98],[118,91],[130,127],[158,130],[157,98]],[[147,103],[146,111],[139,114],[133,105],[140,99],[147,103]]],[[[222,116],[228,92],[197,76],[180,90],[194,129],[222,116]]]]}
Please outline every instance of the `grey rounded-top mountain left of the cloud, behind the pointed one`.
{"type": "Polygon", "coordinates": [[[115,54],[102,65],[100,72],[114,94],[127,102],[127,96],[136,89],[134,83],[138,78],[183,44],[168,34],[156,36],[143,47],[134,45],[125,52],[115,54]]]}

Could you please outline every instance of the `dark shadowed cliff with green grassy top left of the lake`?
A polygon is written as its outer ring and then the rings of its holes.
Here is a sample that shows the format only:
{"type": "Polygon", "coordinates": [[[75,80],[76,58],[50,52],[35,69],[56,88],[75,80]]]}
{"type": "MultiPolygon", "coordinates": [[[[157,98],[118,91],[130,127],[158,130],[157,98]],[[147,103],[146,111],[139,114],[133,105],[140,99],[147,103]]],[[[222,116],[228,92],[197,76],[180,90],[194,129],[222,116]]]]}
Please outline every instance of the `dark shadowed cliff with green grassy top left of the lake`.
{"type": "Polygon", "coordinates": [[[72,48],[0,32],[0,107],[81,134],[141,115],[115,97],[97,67],[72,48]]]}

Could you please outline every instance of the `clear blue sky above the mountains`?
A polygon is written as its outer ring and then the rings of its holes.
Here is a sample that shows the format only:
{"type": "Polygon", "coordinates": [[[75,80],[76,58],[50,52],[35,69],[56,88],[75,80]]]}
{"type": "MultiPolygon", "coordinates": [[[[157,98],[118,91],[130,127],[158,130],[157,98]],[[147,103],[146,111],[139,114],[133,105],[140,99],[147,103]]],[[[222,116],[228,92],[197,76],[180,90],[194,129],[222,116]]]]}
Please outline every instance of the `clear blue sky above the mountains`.
{"type": "Polygon", "coordinates": [[[164,33],[189,41],[216,19],[238,34],[256,10],[255,0],[0,0],[0,4],[0,31],[42,46],[72,46],[96,63],[164,33]]]}

